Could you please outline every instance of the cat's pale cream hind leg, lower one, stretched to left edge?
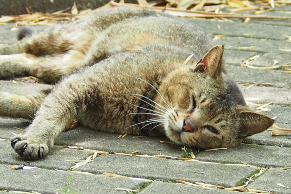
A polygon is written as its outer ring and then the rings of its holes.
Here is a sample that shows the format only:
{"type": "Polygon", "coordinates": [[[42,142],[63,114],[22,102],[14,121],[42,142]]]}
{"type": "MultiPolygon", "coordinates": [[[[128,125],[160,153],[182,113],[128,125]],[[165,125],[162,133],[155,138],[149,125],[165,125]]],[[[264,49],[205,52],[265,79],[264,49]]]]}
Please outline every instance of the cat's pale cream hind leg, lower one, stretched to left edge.
{"type": "Polygon", "coordinates": [[[78,50],[40,57],[27,53],[0,55],[0,78],[32,75],[54,83],[74,69],[84,66],[84,55],[78,50]]]}

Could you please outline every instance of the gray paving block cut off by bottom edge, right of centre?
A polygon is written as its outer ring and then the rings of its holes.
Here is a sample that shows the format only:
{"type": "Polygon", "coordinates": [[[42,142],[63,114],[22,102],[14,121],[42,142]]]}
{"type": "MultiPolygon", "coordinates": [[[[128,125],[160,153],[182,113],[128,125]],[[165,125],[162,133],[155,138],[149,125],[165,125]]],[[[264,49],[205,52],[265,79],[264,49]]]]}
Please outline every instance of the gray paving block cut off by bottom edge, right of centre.
{"type": "Polygon", "coordinates": [[[220,189],[204,189],[202,187],[154,181],[139,194],[237,194],[220,189]]]}

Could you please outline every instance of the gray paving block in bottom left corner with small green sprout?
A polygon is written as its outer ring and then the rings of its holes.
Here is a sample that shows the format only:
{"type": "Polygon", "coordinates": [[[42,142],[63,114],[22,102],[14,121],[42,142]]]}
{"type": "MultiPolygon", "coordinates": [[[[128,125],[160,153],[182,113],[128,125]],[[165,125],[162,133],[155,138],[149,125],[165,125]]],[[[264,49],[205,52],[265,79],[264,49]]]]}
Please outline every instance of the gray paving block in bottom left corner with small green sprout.
{"type": "MultiPolygon", "coordinates": [[[[1,189],[36,191],[43,194],[55,194],[54,191],[56,189],[65,189],[67,181],[72,175],[69,172],[45,169],[14,170],[4,164],[0,165],[0,172],[1,189]]],[[[126,194],[127,192],[118,191],[116,188],[135,189],[140,183],[141,181],[126,178],[100,177],[76,173],[70,182],[69,189],[70,192],[76,189],[81,194],[126,194]]]]}

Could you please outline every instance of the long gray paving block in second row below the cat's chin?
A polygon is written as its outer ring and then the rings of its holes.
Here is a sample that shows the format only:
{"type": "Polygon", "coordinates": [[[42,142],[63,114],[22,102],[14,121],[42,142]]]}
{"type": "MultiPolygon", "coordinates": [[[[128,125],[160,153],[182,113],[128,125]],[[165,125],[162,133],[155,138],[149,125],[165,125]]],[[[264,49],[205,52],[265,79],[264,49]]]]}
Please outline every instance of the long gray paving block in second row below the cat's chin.
{"type": "Polygon", "coordinates": [[[201,162],[129,157],[103,154],[93,162],[78,168],[81,171],[100,174],[115,173],[128,177],[155,180],[203,182],[226,187],[235,186],[243,177],[248,177],[256,168],[201,162]]]}

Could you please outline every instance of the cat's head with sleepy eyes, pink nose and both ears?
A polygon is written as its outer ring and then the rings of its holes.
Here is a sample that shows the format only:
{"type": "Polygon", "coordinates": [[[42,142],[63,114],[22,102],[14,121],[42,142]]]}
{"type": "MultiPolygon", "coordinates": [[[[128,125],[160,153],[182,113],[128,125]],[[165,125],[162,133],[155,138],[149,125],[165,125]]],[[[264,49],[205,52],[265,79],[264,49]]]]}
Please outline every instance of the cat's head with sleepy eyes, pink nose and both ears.
{"type": "Polygon", "coordinates": [[[196,65],[183,65],[162,82],[159,103],[166,109],[164,129],[173,142],[205,149],[236,146],[274,123],[227,93],[222,55],[223,46],[215,46],[196,65]]]}

